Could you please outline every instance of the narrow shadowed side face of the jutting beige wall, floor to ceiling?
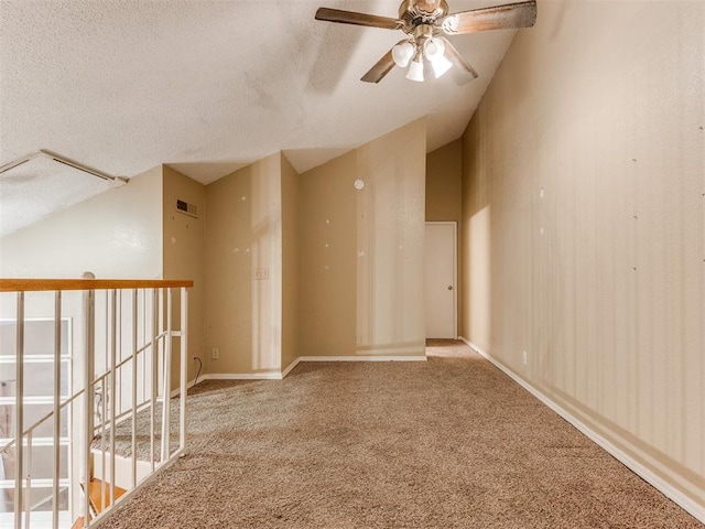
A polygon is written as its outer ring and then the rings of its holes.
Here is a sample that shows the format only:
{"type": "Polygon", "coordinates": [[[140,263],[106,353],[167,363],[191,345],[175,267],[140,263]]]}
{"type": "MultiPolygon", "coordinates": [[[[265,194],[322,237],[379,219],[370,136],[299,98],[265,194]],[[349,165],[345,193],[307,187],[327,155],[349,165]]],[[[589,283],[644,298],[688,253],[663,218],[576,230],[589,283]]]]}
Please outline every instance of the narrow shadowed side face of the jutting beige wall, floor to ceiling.
{"type": "Polygon", "coordinates": [[[282,168],[282,369],[299,358],[299,174],[282,168]]]}

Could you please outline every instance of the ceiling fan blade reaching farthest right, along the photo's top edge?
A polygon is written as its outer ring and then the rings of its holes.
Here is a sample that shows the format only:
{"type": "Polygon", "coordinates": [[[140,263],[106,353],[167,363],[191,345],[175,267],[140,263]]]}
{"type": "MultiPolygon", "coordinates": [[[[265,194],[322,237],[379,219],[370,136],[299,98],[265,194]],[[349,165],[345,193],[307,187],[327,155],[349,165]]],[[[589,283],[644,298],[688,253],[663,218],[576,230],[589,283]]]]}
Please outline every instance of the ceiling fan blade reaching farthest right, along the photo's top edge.
{"type": "Polygon", "coordinates": [[[448,35],[457,35],[488,30],[531,28],[535,22],[536,1],[530,0],[452,13],[438,19],[436,25],[440,25],[448,35]]]}

